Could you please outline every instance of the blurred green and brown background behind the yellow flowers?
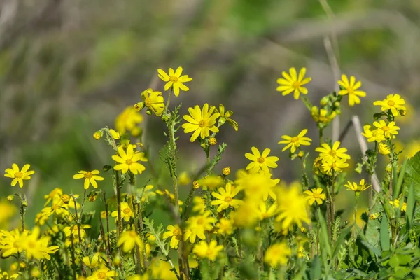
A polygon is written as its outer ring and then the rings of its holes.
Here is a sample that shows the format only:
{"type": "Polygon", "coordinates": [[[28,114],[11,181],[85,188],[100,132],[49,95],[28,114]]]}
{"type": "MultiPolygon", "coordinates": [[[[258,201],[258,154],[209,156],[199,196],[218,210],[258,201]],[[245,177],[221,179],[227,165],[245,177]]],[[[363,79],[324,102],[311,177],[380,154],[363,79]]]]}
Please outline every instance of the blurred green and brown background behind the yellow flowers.
{"type": "MultiPolygon", "coordinates": [[[[82,193],[72,175],[111,163],[111,148],[92,134],[113,127],[146,88],[163,91],[158,68],[183,66],[193,77],[172,102],[183,103],[181,114],[205,102],[234,111],[239,131],[225,125],[218,134],[228,149],[216,172],[245,167],[244,153],[256,146],[279,156],[276,177],[300,179],[300,162],[290,163],[277,142],[303,128],[314,138],[310,151],[318,140],[302,102],[276,92],[276,79],[292,66],[307,67],[314,104],[335,90],[339,72],[362,81],[367,97],[351,108],[344,98],[341,130],[353,115],[371,123],[374,100],[402,94],[408,110],[398,140],[404,153],[419,150],[419,0],[3,0],[0,9],[0,170],[16,162],[36,171],[25,183],[29,225],[43,195],[57,187],[82,193]]],[[[158,161],[165,126],[144,116],[144,142],[158,161]]],[[[179,134],[179,170],[193,174],[205,155],[179,134]]],[[[362,155],[353,129],[343,145],[355,167],[362,155]]],[[[112,193],[104,176],[101,186],[112,193]]],[[[146,172],[139,186],[148,179],[146,172]]],[[[1,197],[16,190],[1,176],[1,197]]],[[[9,208],[0,204],[4,216],[9,208]]]]}

